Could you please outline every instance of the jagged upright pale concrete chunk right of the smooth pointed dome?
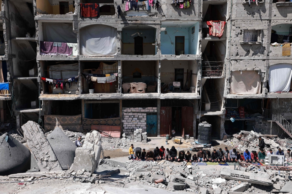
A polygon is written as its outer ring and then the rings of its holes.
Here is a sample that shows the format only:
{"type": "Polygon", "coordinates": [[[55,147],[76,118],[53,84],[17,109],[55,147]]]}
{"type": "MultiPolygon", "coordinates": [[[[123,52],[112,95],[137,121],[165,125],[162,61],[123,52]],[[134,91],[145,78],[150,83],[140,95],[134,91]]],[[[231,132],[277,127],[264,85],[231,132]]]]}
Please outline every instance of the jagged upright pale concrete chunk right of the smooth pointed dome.
{"type": "Polygon", "coordinates": [[[91,131],[86,134],[83,147],[79,147],[75,151],[74,162],[71,170],[85,169],[88,172],[96,171],[101,153],[101,135],[98,131],[91,131]]]}

